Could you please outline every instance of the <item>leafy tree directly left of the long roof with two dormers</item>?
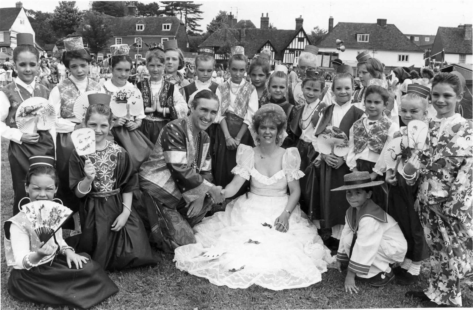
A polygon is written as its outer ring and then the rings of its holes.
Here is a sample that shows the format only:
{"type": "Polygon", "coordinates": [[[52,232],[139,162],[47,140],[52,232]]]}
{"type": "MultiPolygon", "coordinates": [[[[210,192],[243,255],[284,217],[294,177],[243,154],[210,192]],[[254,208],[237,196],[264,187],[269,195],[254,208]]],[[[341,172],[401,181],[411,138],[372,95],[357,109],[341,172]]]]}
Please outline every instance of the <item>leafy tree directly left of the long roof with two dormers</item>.
{"type": "Polygon", "coordinates": [[[84,43],[88,43],[89,50],[97,54],[108,48],[108,41],[113,36],[113,29],[102,13],[89,11],[84,15],[84,19],[74,35],[81,36],[84,43]]]}

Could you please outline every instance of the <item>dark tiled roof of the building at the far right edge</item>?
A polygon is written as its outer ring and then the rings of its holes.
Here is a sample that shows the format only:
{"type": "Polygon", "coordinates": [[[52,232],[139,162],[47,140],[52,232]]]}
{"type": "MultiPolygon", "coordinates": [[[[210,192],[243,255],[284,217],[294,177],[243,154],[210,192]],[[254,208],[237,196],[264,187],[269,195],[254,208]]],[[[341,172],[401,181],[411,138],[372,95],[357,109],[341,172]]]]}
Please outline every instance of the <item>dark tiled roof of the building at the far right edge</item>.
{"type": "Polygon", "coordinates": [[[438,27],[437,35],[446,53],[472,54],[472,38],[464,39],[463,27],[438,27]]]}

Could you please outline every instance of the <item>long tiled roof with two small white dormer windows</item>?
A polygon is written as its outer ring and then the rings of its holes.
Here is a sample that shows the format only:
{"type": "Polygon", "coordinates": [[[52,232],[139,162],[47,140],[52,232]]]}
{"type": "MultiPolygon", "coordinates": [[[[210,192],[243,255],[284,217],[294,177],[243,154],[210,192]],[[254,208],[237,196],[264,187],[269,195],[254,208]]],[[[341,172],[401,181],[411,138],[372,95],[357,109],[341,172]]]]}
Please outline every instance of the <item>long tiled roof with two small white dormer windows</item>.
{"type": "Polygon", "coordinates": [[[176,35],[181,22],[177,17],[106,17],[112,24],[114,36],[125,35],[176,35]],[[144,24],[143,31],[136,31],[136,24],[144,24]],[[163,24],[172,24],[171,30],[163,31],[163,24]]]}

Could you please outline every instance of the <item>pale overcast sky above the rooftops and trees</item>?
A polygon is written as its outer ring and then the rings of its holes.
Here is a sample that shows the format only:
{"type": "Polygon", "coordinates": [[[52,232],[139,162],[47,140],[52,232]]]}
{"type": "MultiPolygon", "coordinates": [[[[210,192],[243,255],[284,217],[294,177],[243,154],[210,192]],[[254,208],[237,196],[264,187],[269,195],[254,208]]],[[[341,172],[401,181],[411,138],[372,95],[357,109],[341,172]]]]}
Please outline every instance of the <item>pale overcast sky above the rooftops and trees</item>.
{"type": "MultiPolygon", "coordinates": [[[[53,12],[58,1],[20,0],[26,9],[53,12]]],[[[1,0],[1,8],[15,7],[17,0],[1,0]]],[[[142,0],[141,2],[154,2],[142,0]]],[[[156,1],[159,2],[159,1],[156,1]]],[[[437,34],[438,26],[456,27],[472,24],[472,0],[201,0],[200,29],[205,31],[219,10],[233,12],[238,20],[250,19],[260,27],[261,13],[268,13],[269,22],[278,29],[295,29],[295,18],[304,18],[304,29],[310,32],[315,26],[328,28],[328,19],[334,23],[359,22],[376,23],[377,18],[387,19],[404,34],[437,34]]],[[[76,1],[79,9],[90,8],[90,1],[76,1]]]]}

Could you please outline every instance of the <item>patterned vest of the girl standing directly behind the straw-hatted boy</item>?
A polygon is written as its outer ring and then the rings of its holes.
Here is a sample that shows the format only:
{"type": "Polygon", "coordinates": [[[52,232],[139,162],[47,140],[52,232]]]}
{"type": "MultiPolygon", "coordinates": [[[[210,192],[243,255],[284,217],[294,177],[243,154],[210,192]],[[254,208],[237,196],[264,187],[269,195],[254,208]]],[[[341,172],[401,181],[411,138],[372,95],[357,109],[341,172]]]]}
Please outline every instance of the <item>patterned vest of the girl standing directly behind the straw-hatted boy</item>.
{"type": "Polygon", "coordinates": [[[363,119],[357,120],[355,124],[353,124],[355,153],[361,153],[368,146],[371,151],[381,154],[387,139],[387,131],[392,123],[393,121],[389,118],[383,117],[367,132],[363,125],[363,119]]]}

